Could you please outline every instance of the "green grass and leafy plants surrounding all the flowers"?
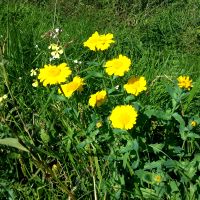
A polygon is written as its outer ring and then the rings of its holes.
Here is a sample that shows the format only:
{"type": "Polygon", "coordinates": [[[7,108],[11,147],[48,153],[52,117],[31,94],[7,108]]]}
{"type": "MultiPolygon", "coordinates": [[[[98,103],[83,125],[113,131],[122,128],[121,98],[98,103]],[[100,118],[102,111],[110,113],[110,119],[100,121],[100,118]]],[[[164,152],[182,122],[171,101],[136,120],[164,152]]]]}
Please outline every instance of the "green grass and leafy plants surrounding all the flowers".
{"type": "Polygon", "coordinates": [[[29,152],[0,146],[0,199],[198,199],[199,124],[189,123],[200,123],[199,7],[198,0],[2,1],[0,96],[8,99],[0,104],[0,138],[17,138],[29,152]],[[49,63],[57,27],[65,51],[56,64],[87,77],[85,95],[69,100],[56,87],[32,87],[30,77],[49,63]],[[96,30],[116,40],[98,56],[83,47],[96,30]],[[119,53],[132,69],[112,82],[99,63],[119,53]],[[137,99],[114,92],[109,104],[87,106],[99,86],[109,90],[130,75],[145,76],[147,92],[137,99]],[[192,78],[190,93],[174,89],[179,75],[192,78]],[[110,128],[107,117],[119,103],[140,111],[131,131],[110,128]]]}

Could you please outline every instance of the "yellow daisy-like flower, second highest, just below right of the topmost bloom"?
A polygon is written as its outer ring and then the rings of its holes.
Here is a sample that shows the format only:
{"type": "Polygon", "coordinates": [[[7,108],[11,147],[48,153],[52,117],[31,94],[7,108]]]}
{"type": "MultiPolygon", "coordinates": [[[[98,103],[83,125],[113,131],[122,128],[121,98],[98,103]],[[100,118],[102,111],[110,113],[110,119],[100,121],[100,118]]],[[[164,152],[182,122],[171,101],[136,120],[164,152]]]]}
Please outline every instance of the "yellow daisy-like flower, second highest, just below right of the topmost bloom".
{"type": "Polygon", "coordinates": [[[106,62],[106,73],[108,75],[114,74],[115,76],[124,76],[124,73],[129,71],[131,60],[123,55],[106,62]]]}

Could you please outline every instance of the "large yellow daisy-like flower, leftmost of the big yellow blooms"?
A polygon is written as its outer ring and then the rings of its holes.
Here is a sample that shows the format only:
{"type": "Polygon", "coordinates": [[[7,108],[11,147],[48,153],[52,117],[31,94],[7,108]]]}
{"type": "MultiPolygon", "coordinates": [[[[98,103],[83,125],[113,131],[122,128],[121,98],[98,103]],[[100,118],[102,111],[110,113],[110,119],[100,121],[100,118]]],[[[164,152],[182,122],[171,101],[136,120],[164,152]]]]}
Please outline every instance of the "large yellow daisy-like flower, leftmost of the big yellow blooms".
{"type": "Polygon", "coordinates": [[[66,81],[66,78],[72,73],[66,63],[62,63],[58,66],[45,65],[44,68],[39,70],[38,79],[43,82],[44,86],[48,84],[59,84],[66,81]]]}

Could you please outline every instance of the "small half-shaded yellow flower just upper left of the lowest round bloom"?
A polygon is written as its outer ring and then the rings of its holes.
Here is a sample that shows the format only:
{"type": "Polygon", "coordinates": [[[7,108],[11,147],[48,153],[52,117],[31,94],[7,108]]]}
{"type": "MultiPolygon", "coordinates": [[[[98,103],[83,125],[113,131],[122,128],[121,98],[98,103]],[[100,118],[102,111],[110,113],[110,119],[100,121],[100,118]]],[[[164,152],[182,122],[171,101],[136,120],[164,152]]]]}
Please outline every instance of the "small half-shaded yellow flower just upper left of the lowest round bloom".
{"type": "Polygon", "coordinates": [[[90,95],[89,99],[89,105],[92,106],[93,108],[95,106],[101,106],[105,100],[107,99],[107,93],[105,90],[102,90],[100,92],[97,92],[96,94],[90,95]]]}

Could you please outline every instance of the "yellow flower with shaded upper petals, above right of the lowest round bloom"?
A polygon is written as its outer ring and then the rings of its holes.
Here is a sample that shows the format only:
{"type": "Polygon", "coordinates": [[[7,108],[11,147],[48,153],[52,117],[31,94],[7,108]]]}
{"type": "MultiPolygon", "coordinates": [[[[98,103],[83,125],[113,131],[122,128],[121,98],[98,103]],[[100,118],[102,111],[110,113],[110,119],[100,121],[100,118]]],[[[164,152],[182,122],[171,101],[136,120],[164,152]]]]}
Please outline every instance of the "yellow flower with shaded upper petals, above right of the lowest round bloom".
{"type": "Polygon", "coordinates": [[[146,80],[142,77],[132,77],[128,80],[128,83],[124,85],[124,89],[135,96],[138,96],[144,90],[147,90],[146,80]]]}

